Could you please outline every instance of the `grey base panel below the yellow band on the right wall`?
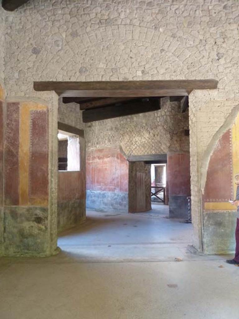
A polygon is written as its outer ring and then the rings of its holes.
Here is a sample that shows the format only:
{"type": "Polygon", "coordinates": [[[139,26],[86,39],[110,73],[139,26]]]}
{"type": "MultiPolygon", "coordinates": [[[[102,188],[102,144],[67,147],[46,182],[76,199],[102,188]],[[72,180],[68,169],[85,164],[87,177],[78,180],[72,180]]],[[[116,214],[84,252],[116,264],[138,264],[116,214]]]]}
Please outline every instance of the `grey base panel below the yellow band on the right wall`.
{"type": "Polygon", "coordinates": [[[235,211],[204,213],[203,250],[205,254],[235,252],[235,211]]]}

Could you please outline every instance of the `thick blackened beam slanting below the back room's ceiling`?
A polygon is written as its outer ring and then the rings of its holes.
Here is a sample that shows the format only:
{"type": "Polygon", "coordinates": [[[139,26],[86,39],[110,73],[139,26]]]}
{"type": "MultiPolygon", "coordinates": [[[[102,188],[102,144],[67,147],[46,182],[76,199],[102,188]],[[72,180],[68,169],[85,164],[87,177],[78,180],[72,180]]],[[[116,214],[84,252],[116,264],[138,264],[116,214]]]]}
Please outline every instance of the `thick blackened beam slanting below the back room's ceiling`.
{"type": "Polygon", "coordinates": [[[143,99],[141,101],[128,102],[122,105],[113,105],[103,108],[84,110],[82,116],[83,122],[89,123],[114,117],[156,111],[159,110],[160,107],[160,99],[143,99]]]}

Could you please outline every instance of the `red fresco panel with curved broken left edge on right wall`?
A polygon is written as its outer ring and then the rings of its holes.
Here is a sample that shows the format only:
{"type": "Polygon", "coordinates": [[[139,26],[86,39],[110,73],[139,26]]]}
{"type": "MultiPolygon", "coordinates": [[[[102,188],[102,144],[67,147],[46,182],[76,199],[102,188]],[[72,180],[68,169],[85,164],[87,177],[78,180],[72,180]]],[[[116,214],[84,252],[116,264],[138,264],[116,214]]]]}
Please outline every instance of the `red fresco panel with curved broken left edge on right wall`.
{"type": "Polygon", "coordinates": [[[233,198],[231,130],[222,135],[211,155],[205,185],[205,202],[233,198]]]}

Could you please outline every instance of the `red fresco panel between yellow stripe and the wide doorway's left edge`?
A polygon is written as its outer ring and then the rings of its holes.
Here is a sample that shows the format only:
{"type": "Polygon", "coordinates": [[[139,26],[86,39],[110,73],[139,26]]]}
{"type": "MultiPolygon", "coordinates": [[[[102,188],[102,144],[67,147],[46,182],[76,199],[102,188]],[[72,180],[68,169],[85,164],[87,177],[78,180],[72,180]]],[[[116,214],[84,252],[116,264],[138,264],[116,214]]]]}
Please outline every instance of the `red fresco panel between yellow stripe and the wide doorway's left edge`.
{"type": "Polygon", "coordinates": [[[29,197],[48,197],[48,114],[31,111],[29,197]]]}

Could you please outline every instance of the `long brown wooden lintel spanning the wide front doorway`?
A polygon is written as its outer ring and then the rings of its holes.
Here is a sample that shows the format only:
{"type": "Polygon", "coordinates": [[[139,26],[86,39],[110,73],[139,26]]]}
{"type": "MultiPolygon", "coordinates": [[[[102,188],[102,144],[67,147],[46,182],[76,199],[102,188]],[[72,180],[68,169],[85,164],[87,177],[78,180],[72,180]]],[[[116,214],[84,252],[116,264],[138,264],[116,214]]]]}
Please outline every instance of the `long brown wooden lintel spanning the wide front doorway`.
{"type": "Polygon", "coordinates": [[[216,89],[218,81],[97,81],[97,82],[34,82],[36,91],[55,91],[65,97],[141,97],[180,96],[192,90],[216,89]]]}

